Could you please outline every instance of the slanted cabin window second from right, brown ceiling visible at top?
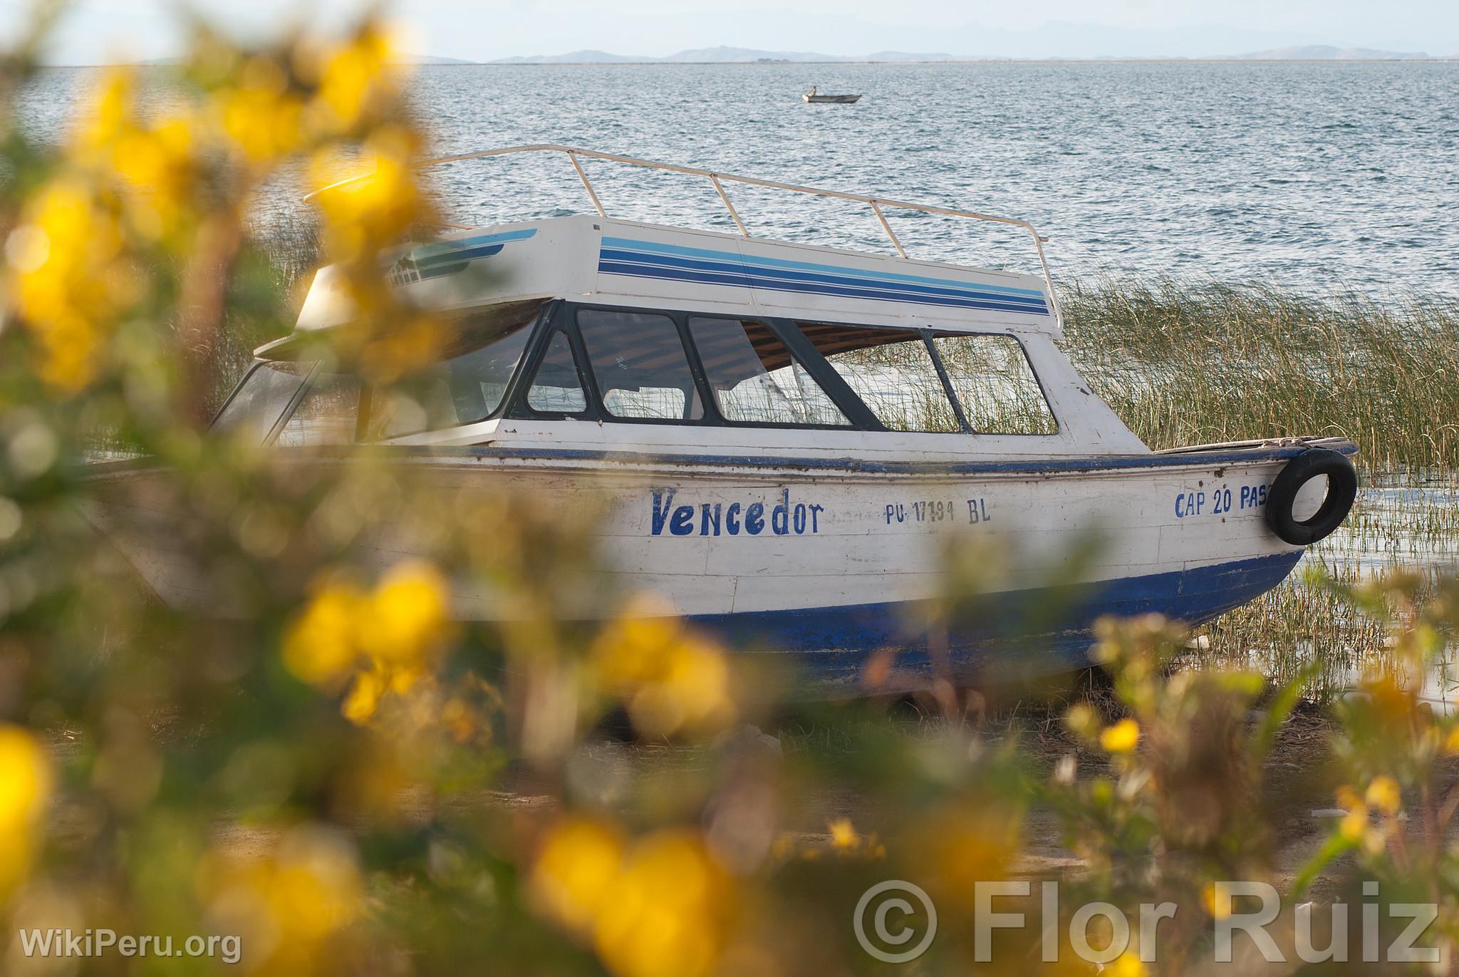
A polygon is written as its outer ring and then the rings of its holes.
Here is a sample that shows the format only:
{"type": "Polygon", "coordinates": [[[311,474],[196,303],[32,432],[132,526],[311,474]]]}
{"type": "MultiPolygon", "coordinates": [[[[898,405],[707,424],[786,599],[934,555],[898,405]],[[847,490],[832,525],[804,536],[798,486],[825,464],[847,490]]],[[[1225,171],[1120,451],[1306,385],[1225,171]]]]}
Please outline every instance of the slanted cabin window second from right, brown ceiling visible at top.
{"type": "Polygon", "coordinates": [[[800,329],[889,431],[963,429],[921,333],[826,323],[800,329]]]}

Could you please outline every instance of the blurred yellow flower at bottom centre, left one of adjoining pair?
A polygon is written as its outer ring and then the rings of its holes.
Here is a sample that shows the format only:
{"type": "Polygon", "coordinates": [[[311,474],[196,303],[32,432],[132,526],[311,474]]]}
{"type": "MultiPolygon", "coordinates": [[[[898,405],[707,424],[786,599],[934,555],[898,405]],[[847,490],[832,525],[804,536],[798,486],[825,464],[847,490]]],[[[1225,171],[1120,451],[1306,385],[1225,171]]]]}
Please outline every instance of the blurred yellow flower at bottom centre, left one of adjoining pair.
{"type": "Polygon", "coordinates": [[[568,929],[587,935],[608,900],[614,898],[623,837],[585,818],[559,824],[533,866],[530,889],[538,907],[568,929]]]}

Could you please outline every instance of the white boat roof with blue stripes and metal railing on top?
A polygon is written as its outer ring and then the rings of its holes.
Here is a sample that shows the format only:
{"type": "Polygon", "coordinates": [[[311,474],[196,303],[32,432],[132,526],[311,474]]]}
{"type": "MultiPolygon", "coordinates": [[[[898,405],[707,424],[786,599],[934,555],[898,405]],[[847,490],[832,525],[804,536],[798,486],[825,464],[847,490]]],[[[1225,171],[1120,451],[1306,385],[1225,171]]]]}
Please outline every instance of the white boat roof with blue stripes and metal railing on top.
{"type": "MultiPolygon", "coordinates": [[[[451,225],[452,229],[439,240],[407,245],[384,256],[390,282],[403,299],[425,308],[465,310],[524,299],[566,298],[630,308],[919,326],[948,332],[994,329],[1061,333],[1058,298],[1043,257],[1043,238],[1023,221],[840,190],[778,184],[566,146],[484,150],[423,161],[422,165],[516,152],[568,153],[598,213],[481,228],[451,225]],[[740,234],[608,218],[578,164],[579,155],[708,177],[740,234]],[[724,183],[748,183],[867,203],[881,221],[896,253],[867,254],[750,237],[724,183]],[[1036,247],[1043,273],[1023,275],[910,258],[887,223],[883,207],[1024,228],[1036,247]]],[[[325,191],[349,191],[359,180],[362,178],[341,181],[325,191]]],[[[298,332],[328,329],[349,318],[343,291],[337,285],[333,267],[317,273],[299,313],[298,332]]]]}

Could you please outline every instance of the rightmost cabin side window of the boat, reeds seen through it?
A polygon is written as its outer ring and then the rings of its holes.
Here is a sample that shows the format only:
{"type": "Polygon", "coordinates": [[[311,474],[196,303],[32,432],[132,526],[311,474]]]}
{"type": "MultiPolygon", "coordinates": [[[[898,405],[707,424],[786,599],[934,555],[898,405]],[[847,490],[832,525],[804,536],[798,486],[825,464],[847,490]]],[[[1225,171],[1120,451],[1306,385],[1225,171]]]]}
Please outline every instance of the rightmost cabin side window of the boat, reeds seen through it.
{"type": "Polygon", "coordinates": [[[963,416],[979,434],[1058,434],[1049,402],[1023,345],[1013,336],[937,333],[932,337],[963,416]]]}

